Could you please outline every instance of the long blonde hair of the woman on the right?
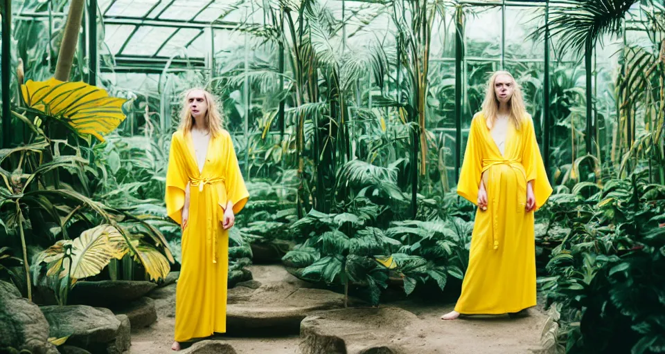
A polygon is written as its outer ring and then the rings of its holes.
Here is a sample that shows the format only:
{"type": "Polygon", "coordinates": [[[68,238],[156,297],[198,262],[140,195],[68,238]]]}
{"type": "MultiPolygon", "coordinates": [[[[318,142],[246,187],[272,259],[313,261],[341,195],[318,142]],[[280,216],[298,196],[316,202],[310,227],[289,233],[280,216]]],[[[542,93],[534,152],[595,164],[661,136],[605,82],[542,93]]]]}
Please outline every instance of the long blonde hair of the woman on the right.
{"type": "Polygon", "coordinates": [[[522,97],[522,87],[520,84],[517,84],[515,77],[508,73],[508,71],[497,71],[495,72],[490,80],[487,82],[487,92],[485,94],[485,100],[483,101],[483,114],[485,115],[485,122],[488,129],[494,127],[494,122],[497,119],[497,113],[499,112],[499,100],[494,91],[494,84],[497,80],[497,76],[507,75],[511,78],[513,83],[513,95],[511,96],[510,106],[511,113],[509,119],[513,122],[515,129],[520,130],[522,125],[522,120],[526,117],[526,107],[524,106],[524,98],[522,97]]]}

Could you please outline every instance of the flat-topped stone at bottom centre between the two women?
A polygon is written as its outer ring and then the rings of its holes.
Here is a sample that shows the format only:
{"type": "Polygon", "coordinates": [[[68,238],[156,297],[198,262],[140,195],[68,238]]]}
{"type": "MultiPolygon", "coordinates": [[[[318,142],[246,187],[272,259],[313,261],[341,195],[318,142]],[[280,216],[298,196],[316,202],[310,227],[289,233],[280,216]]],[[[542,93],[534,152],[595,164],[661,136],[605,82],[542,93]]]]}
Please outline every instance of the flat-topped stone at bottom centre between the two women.
{"type": "Polygon", "coordinates": [[[417,348],[414,343],[420,339],[411,337],[407,329],[416,322],[416,315],[401,308],[330,310],[303,319],[300,350],[303,354],[408,353],[405,348],[417,348]]]}

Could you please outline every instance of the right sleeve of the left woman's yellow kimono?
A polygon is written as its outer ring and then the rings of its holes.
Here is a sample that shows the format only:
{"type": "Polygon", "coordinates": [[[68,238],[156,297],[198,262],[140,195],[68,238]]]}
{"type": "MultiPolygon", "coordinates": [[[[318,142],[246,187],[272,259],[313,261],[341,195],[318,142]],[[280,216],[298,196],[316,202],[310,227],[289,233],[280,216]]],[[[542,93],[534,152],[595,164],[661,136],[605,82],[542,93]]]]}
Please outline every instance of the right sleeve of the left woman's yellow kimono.
{"type": "MultiPolygon", "coordinates": [[[[227,203],[231,201],[233,205],[233,214],[238,214],[249,199],[249,192],[245,186],[245,180],[242,178],[240,172],[240,165],[238,165],[238,158],[236,158],[236,150],[233,149],[233,141],[231,135],[224,134],[224,153],[222,156],[224,160],[224,185],[227,189],[227,203]]],[[[227,205],[222,205],[226,208],[227,205]]]]}

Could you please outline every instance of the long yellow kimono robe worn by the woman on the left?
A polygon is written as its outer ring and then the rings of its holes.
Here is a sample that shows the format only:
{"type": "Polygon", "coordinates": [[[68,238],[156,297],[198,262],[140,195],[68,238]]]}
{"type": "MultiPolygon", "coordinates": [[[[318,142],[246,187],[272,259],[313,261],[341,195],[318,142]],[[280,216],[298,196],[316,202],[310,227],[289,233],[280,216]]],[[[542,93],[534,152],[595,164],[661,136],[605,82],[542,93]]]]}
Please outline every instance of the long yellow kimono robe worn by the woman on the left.
{"type": "Polygon", "coordinates": [[[166,173],[166,212],[182,223],[190,183],[187,227],[182,234],[182,267],[176,289],[175,340],[208,337],[227,330],[229,232],[222,227],[227,201],[238,214],[249,193],[227,131],[211,137],[199,172],[190,133],[173,133],[166,173]]]}

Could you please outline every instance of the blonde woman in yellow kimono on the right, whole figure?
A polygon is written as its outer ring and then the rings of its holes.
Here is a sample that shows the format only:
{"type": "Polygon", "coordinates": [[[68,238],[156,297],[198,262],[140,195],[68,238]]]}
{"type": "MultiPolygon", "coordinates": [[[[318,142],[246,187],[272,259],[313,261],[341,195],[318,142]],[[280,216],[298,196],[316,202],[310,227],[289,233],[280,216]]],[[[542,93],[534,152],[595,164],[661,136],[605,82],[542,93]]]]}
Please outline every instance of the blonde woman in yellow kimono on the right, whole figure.
{"type": "Polygon", "coordinates": [[[482,111],[473,117],[457,193],[478,209],[461,295],[441,319],[535,306],[533,212],[552,187],[520,86],[506,71],[490,77],[482,111]]]}

